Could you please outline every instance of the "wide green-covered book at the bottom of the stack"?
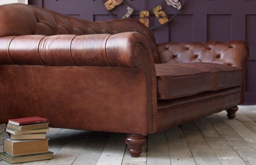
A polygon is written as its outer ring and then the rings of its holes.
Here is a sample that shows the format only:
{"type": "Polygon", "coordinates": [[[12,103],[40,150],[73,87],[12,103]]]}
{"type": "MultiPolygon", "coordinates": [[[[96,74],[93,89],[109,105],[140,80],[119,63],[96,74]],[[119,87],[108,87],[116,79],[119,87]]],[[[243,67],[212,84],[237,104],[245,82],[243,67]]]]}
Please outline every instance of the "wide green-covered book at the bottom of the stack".
{"type": "Polygon", "coordinates": [[[37,153],[22,156],[12,156],[6,152],[0,153],[0,158],[8,163],[24,163],[29,161],[53,159],[53,152],[37,153]]]}

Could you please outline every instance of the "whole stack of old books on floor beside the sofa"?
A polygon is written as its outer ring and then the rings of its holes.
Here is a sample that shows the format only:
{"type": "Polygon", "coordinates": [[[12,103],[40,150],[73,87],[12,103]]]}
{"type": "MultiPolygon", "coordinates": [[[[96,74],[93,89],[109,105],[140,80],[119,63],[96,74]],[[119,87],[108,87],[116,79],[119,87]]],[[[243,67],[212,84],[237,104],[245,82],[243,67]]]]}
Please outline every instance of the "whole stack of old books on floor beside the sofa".
{"type": "Polygon", "coordinates": [[[53,158],[48,149],[46,132],[49,132],[49,120],[40,117],[10,119],[6,127],[10,138],[4,139],[4,152],[0,158],[8,163],[53,158]]]}

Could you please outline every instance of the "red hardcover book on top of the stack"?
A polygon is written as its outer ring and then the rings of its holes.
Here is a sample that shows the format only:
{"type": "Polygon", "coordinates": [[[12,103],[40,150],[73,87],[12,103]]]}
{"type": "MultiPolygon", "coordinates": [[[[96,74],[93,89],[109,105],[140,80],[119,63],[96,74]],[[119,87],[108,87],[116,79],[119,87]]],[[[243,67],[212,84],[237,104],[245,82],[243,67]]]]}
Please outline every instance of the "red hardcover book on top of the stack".
{"type": "Polygon", "coordinates": [[[9,119],[8,123],[14,125],[28,125],[28,124],[38,124],[49,122],[48,119],[40,117],[28,117],[28,118],[18,118],[18,119],[9,119]]]}

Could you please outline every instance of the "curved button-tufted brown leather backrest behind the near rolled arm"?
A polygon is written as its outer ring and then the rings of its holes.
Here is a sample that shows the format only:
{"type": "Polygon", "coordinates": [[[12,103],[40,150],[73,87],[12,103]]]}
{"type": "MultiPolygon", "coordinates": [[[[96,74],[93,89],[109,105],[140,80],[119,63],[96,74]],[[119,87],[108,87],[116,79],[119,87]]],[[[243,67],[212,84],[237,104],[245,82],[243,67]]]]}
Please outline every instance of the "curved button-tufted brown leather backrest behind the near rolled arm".
{"type": "Polygon", "coordinates": [[[135,31],[146,38],[155,63],[159,63],[154,34],[135,19],[86,21],[33,5],[6,4],[0,6],[0,29],[0,37],[34,34],[116,34],[135,31]]]}

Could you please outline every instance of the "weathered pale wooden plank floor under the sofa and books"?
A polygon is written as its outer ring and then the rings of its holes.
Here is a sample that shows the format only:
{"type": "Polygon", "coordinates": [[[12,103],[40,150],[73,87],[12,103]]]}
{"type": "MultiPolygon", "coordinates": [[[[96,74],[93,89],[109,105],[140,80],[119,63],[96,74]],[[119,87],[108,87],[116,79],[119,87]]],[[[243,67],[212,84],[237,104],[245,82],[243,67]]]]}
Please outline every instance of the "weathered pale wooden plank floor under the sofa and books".
{"type": "Polygon", "coordinates": [[[139,158],[129,156],[121,133],[51,128],[47,137],[54,159],[23,165],[256,165],[256,105],[239,106],[234,120],[223,111],[150,134],[139,158]]]}

